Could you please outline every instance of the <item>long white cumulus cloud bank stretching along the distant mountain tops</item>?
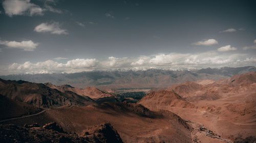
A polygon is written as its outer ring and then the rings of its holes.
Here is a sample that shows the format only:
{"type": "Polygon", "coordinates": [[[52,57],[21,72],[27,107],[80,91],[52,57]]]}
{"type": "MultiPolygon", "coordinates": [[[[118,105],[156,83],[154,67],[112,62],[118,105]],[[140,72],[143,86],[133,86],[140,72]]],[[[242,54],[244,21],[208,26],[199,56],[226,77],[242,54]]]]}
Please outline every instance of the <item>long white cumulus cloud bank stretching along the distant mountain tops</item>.
{"type": "MultiPolygon", "coordinates": [[[[61,58],[60,58],[61,59],[61,58]]],[[[74,59],[66,63],[47,60],[44,62],[13,63],[6,71],[0,73],[52,73],[52,72],[81,72],[91,70],[146,70],[146,69],[200,69],[220,68],[224,66],[256,66],[254,54],[207,51],[201,53],[161,53],[143,55],[137,58],[116,58],[110,56],[105,60],[74,59]]]]}

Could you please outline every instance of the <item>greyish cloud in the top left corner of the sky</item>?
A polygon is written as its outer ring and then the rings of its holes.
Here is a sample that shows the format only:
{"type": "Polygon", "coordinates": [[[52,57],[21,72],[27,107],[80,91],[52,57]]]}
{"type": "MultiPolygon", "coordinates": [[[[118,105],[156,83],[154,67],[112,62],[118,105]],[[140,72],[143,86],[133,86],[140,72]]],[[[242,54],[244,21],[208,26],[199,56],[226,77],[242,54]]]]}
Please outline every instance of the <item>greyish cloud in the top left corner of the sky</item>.
{"type": "Polygon", "coordinates": [[[3,2],[5,13],[9,16],[13,15],[42,15],[42,9],[30,3],[29,0],[6,0],[3,2]]]}

